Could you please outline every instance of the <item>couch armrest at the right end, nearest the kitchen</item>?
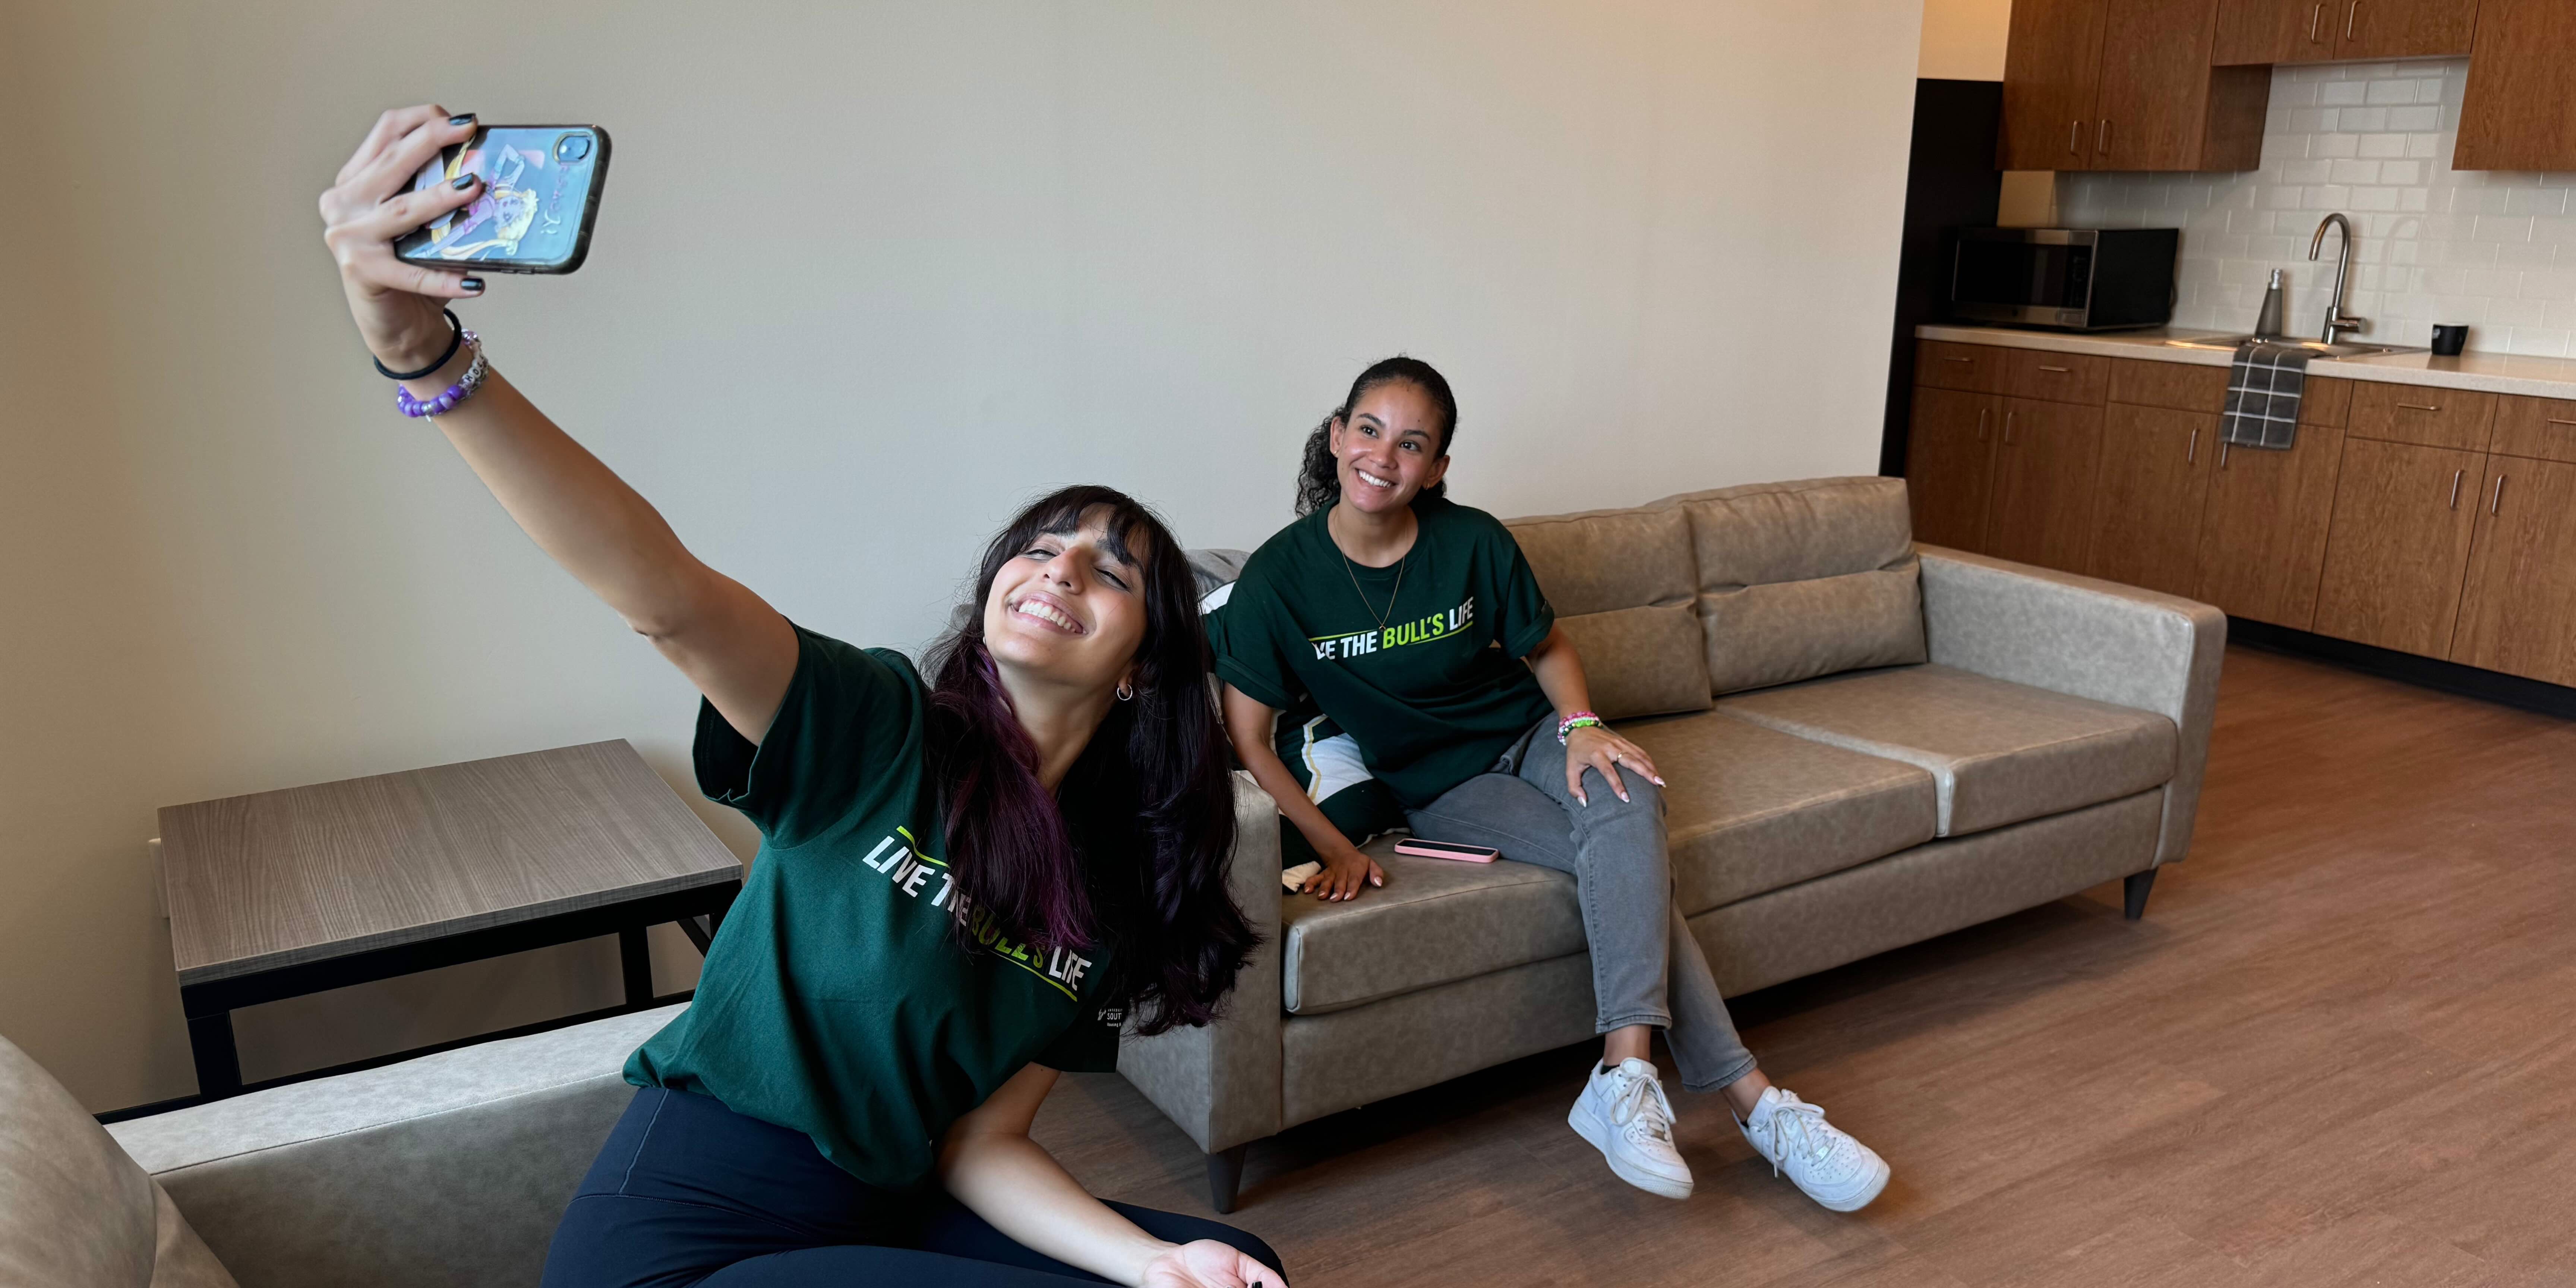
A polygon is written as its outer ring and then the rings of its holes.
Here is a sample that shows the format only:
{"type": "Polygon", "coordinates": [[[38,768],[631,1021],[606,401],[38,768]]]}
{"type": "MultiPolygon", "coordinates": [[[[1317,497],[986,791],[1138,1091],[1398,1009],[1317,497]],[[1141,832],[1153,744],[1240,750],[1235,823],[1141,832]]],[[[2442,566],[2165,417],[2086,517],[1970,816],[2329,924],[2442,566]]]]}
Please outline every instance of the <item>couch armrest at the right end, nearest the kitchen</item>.
{"type": "Polygon", "coordinates": [[[1932,662],[2154,711],[2182,734],[2156,863],[2192,848],[2228,618],[2218,608],[1984,554],[1917,546],[1932,662]]]}

